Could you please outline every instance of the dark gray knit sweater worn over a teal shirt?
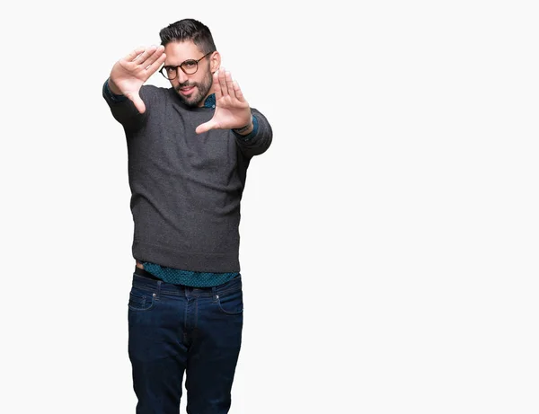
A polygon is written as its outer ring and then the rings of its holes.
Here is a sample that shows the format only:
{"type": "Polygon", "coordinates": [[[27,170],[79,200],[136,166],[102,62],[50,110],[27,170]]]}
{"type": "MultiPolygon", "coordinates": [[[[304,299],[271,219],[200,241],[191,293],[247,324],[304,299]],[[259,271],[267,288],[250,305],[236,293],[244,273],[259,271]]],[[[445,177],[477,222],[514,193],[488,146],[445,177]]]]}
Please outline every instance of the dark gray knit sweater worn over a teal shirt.
{"type": "Polygon", "coordinates": [[[173,269],[240,271],[240,201],[252,156],[271,144],[270,123],[258,121],[244,140],[230,129],[196,134],[214,114],[189,108],[172,89],[144,85],[146,112],[103,92],[128,144],[133,257],[173,269]]]}

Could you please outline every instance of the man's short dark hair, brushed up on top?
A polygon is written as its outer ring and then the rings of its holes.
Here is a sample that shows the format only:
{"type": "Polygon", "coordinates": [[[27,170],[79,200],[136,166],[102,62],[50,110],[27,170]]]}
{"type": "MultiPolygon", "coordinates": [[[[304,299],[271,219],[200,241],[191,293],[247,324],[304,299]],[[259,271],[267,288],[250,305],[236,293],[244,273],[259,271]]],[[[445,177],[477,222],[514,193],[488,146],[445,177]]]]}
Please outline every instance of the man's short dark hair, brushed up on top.
{"type": "Polygon", "coordinates": [[[163,46],[172,41],[191,40],[204,54],[217,49],[208,26],[194,19],[182,19],[169,24],[159,31],[159,37],[163,46]]]}

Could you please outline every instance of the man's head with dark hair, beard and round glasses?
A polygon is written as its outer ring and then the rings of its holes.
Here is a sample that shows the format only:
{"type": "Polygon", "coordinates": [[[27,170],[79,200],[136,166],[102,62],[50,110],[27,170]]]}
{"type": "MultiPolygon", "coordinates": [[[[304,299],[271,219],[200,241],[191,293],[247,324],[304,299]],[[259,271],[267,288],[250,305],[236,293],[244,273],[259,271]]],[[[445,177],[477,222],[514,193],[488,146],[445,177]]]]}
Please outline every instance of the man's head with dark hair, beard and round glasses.
{"type": "Polygon", "coordinates": [[[202,106],[211,93],[212,75],[221,64],[208,27],[183,19],[163,28],[159,36],[166,54],[162,74],[181,101],[191,107],[202,106]]]}

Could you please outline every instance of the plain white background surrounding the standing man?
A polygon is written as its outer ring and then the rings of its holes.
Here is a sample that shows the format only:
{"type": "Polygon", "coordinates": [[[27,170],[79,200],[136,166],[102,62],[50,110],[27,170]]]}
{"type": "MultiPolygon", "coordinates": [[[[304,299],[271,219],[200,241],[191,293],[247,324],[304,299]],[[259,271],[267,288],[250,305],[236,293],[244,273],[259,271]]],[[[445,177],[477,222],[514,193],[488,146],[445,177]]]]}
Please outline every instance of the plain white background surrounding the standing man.
{"type": "Polygon", "coordinates": [[[539,412],[534,6],[4,5],[0,412],[135,412],[127,151],[101,91],[185,17],[274,131],[243,196],[230,412],[539,412]]]}

